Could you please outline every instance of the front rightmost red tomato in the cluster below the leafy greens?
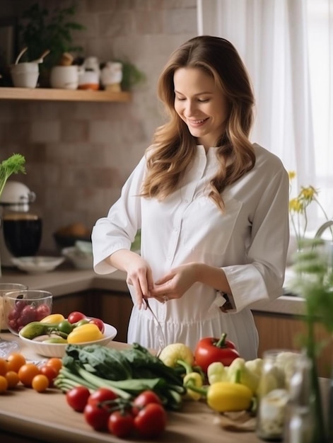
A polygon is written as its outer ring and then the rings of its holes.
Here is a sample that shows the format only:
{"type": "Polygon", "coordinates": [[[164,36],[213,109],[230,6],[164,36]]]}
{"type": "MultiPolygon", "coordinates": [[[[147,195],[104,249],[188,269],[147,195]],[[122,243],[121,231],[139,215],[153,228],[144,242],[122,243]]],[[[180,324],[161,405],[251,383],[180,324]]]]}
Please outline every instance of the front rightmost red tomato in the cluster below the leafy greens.
{"type": "Polygon", "coordinates": [[[134,428],[141,437],[158,437],[165,430],[166,422],[167,413],[163,406],[149,403],[134,418],[134,428]]]}

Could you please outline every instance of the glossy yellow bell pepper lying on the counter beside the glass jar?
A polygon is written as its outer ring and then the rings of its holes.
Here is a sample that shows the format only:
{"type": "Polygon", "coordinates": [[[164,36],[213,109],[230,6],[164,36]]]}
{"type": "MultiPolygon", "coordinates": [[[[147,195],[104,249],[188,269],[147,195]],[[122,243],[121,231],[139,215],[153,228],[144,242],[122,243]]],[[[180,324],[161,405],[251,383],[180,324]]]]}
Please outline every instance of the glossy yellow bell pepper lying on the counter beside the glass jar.
{"type": "Polygon", "coordinates": [[[252,396],[251,389],[244,384],[217,381],[209,386],[206,401],[211,409],[224,413],[249,409],[252,396]]]}

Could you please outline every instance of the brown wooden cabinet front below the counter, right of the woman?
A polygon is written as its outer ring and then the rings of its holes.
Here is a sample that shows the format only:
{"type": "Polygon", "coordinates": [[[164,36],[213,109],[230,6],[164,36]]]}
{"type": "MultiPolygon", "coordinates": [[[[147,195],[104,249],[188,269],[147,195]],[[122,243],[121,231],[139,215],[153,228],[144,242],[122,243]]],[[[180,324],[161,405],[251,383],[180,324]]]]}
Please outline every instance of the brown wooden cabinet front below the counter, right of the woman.
{"type": "MultiPolygon", "coordinates": [[[[254,311],[259,333],[258,356],[268,349],[299,350],[300,338],[305,333],[305,322],[300,318],[277,313],[254,311]]],[[[317,343],[325,343],[318,359],[319,376],[330,377],[333,363],[333,340],[322,325],[315,326],[317,343]]]]}

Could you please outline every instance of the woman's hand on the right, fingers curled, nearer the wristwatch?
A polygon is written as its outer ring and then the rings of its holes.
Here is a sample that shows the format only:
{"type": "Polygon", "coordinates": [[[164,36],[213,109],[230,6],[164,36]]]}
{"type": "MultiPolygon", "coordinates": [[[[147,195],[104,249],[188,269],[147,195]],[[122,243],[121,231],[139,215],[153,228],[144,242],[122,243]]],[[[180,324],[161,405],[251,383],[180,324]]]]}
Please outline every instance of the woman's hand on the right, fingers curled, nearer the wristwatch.
{"type": "Polygon", "coordinates": [[[196,281],[194,263],[175,267],[155,282],[153,289],[151,289],[151,297],[161,303],[170,299],[180,299],[196,281]]]}

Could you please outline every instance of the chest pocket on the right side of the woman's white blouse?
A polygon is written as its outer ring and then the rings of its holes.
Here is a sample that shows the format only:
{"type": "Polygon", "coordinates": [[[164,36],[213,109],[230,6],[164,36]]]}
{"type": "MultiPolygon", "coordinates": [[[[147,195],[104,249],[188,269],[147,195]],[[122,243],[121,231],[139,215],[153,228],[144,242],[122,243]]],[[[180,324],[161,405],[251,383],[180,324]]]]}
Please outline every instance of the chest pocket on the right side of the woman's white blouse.
{"type": "Polygon", "coordinates": [[[226,210],[221,210],[202,192],[187,207],[182,219],[183,246],[205,255],[226,253],[228,243],[235,233],[235,224],[242,203],[230,198],[226,210]]]}

